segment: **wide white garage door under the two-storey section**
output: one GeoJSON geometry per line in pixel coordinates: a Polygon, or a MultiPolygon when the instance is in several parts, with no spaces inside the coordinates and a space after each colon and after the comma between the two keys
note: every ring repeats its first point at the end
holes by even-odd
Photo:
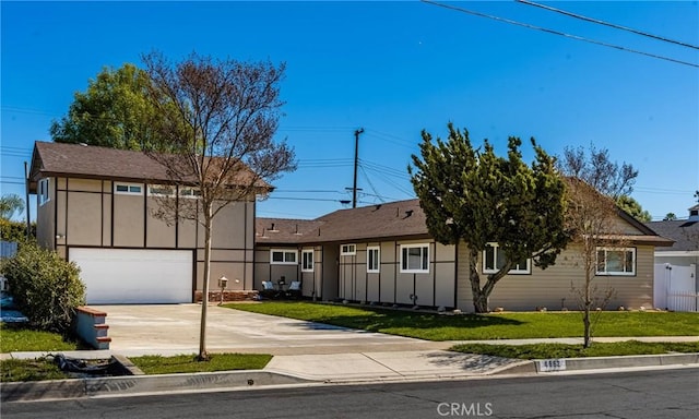
{"type": "Polygon", "coordinates": [[[71,248],[88,304],[192,302],[192,252],[71,248]]]}

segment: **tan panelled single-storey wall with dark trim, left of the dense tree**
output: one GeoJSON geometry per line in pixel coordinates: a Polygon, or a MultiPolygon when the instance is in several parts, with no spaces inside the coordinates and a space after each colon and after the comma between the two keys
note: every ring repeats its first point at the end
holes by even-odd
{"type": "MultiPolygon", "coordinates": [[[[433,240],[355,242],[355,255],[341,255],[337,297],[351,301],[454,307],[455,248],[433,240]],[[402,273],[401,244],[422,244],[429,249],[428,273],[402,273]],[[367,273],[367,248],[380,248],[379,273],[367,273]]],[[[340,244],[337,244],[337,248],[340,244]]]]}

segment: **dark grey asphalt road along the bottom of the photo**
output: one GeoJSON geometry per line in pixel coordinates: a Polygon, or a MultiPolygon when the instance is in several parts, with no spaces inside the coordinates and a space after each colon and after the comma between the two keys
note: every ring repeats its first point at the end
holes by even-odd
{"type": "Polygon", "coordinates": [[[699,417],[699,369],[3,403],[9,418],[699,417]]]}

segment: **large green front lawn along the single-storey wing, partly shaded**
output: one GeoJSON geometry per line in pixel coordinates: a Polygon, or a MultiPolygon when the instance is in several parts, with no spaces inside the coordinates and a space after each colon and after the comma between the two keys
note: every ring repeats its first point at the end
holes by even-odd
{"type": "MultiPolygon", "coordinates": [[[[579,312],[440,315],[298,301],[224,307],[427,340],[577,337],[583,333],[579,312]]],[[[600,322],[594,327],[597,337],[699,336],[699,313],[605,311],[599,314],[600,322]]]]}

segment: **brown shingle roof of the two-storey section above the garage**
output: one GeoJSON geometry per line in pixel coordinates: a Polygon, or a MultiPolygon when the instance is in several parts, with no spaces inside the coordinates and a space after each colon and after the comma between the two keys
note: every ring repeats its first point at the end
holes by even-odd
{"type": "MultiPolygon", "coordinates": [[[[246,168],[242,177],[252,172],[246,168]]],[[[145,153],[94,145],[36,142],[32,156],[29,180],[32,190],[38,179],[76,177],[86,179],[114,179],[121,181],[167,182],[167,169],[145,153]]],[[[241,179],[241,182],[245,181],[241,179]]],[[[257,181],[260,188],[271,188],[257,181]]]]}

